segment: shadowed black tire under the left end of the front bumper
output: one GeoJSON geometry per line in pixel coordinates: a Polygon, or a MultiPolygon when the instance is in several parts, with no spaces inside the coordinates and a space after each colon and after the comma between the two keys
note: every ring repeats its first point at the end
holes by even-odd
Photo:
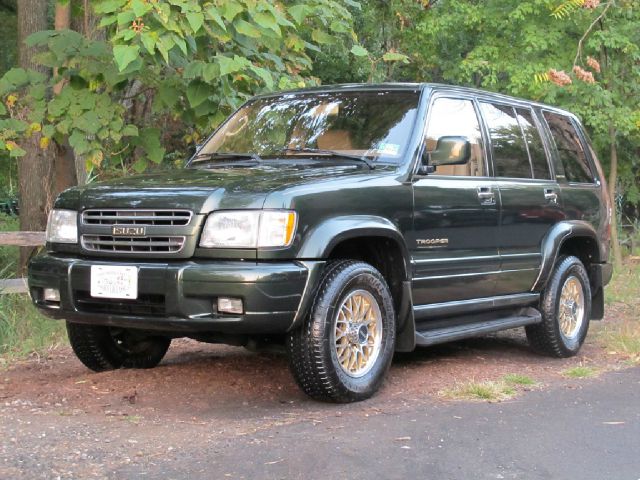
{"type": "Polygon", "coordinates": [[[153,368],[171,339],[123,328],[67,322],[69,343],[78,359],[94,372],[117,368],[153,368]]]}

